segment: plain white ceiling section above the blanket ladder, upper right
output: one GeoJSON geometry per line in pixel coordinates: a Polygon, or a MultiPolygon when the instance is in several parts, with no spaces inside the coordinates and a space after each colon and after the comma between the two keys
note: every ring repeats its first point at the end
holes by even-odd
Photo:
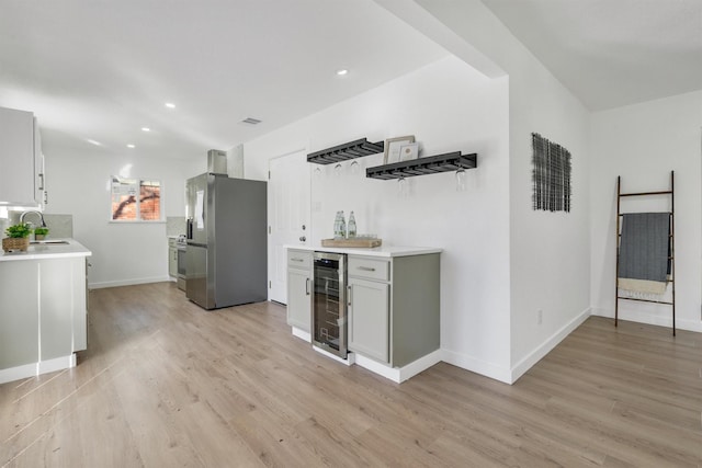
{"type": "Polygon", "coordinates": [[[482,0],[591,111],[702,89],[702,0],[482,0]]]}

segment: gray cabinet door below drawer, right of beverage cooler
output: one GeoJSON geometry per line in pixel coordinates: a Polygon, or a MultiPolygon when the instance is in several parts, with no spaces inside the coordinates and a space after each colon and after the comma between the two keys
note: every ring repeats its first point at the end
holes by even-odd
{"type": "Polygon", "coordinates": [[[388,363],[390,286],[349,278],[349,350],[388,363]]]}

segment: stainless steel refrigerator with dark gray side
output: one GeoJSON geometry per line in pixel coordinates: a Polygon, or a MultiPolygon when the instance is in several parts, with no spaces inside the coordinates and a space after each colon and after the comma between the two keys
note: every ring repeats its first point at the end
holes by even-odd
{"type": "Polygon", "coordinates": [[[268,298],[265,182],[189,179],[185,295],[205,309],[268,298]]]}

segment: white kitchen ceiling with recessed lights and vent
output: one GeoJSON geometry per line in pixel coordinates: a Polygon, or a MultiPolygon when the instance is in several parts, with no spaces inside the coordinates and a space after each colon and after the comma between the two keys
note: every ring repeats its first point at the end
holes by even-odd
{"type": "Polygon", "coordinates": [[[445,55],[372,0],[2,0],[0,106],[47,155],[204,160],[445,55]]]}

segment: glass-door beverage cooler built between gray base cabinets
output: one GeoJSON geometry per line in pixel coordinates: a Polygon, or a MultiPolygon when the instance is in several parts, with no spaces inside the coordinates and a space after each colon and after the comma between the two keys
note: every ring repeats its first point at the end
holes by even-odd
{"type": "Polygon", "coordinates": [[[313,342],[347,357],[346,255],[315,252],[313,342]]]}

